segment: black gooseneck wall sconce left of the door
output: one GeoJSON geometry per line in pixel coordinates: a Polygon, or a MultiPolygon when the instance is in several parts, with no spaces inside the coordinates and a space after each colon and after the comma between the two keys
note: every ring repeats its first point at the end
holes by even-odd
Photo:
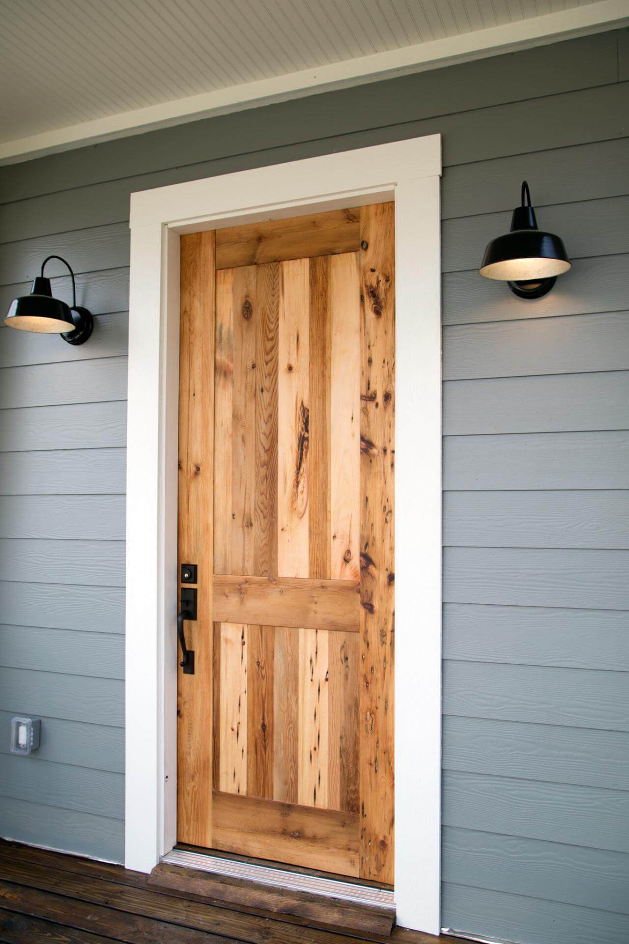
{"type": "Polygon", "coordinates": [[[5,324],[8,328],[22,331],[37,331],[41,334],[60,334],[69,345],[82,345],[88,340],[94,326],[87,308],[76,304],[74,272],[69,263],[60,256],[47,256],[41,263],[41,273],[33,279],[30,295],[22,295],[11,302],[5,324]],[[58,259],[68,267],[72,278],[72,306],[60,298],[53,298],[50,278],[44,278],[46,262],[58,259]]]}

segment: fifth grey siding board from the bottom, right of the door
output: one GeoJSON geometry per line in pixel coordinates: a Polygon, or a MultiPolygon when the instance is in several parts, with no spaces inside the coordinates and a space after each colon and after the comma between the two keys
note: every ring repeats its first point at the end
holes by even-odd
{"type": "Polygon", "coordinates": [[[447,715],[629,732],[629,673],[443,664],[447,715]]]}

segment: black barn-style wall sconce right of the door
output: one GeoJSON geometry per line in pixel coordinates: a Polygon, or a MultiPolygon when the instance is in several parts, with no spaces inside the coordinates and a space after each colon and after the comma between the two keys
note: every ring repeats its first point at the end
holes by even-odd
{"type": "Polygon", "coordinates": [[[571,264],[562,240],[538,229],[528,184],[522,180],[521,207],[513,211],[511,231],[488,243],[480,275],[505,281],[520,298],[541,298],[571,264]]]}

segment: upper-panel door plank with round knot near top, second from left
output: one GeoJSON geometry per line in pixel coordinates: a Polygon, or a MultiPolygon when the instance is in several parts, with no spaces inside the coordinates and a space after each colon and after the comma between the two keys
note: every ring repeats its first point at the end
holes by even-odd
{"type": "Polygon", "coordinates": [[[254,573],[256,475],[256,266],[233,270],[232,573],[254,573]]]}

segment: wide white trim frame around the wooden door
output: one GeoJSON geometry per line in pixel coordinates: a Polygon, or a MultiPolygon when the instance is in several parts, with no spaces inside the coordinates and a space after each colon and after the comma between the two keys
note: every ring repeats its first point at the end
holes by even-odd
{"type": "Polygon", "coordinates": [[[441,343],[439,135],[131,194],[125,865],[176,835],[179,236],[395,201],[395,901],[439,935],[441,343]]]}

